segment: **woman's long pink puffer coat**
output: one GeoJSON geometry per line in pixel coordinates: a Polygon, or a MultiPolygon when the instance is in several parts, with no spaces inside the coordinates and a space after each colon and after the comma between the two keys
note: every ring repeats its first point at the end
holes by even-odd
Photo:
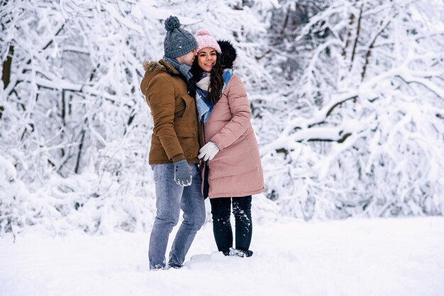
{"type": "Polygon", "coordinates": [[[241,197],[264,191],[251,110],[242,81],[233,74],[204,125],[205,141],[221,149],[209,164],[209,198],[241,197]]]}

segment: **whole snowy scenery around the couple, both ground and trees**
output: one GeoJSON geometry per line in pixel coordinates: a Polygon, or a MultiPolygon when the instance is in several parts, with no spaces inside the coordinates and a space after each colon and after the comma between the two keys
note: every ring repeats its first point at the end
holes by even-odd
{"type": "Polygon", "coordinates": [[[366,1],[360,30],[351,1],[31,2],[1,4],[0,296],[444,295],[443,1],[366,1]],[[152,272],[141,63],[170,15],[238,50],[267,191],[252,258],[215,251],[207,200],[152,272]]]}

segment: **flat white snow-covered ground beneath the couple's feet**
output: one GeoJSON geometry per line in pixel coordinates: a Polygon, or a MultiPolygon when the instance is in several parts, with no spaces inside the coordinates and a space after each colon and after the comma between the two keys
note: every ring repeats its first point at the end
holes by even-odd
{"type": "Polygon", "coordinates": [[[148,233],[0,239],[0,295],[444,295],[444,218],[255,224],[251,258],[214,250],[148,271],[148,233]]]}

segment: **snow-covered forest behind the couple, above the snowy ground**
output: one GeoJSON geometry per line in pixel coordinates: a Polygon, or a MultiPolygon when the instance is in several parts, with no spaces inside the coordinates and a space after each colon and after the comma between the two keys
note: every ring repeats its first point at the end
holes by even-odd
{"type": "Polygon", "coordinates": [[[140,80],[171,14],[238,50],[257,218],[443,215],[442,1],[1,0],[0,235],[150,229],[140,80]]]}

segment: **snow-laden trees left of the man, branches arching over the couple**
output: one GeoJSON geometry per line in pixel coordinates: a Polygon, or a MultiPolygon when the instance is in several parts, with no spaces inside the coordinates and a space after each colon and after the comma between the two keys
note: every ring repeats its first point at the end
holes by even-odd
{"type": "Polygon", "coordinates": [[[192,32],[232,40],[241,69],[265,33],[235,2],[210,4],[1,2],[0,233],[150,227],[152,120],[140,80],[143,60],[163,55],[163,21],[177,15],[192,32]]]}

